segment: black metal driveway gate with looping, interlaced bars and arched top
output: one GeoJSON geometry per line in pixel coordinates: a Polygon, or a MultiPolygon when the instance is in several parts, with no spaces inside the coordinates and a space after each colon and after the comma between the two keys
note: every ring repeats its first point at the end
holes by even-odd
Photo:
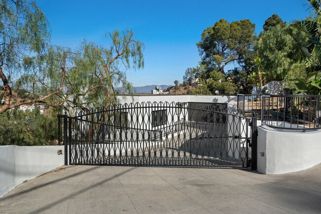
{"type": "Polygon", "coordinates": [[[66,165],[249,167],[256,129],[255,118],[174,102],[112,105],[58,122],[66,165]]]}

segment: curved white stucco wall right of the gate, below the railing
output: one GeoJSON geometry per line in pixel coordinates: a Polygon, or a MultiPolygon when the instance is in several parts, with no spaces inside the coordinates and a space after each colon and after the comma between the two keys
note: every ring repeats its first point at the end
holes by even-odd
{"type": "Polygon", "coordinates": [[[258,127],[257,171],[281,174],[321,163],[321,130],[291,131],[258,127]],[[260,156],[264,152],[264,157],[260,156]]]}

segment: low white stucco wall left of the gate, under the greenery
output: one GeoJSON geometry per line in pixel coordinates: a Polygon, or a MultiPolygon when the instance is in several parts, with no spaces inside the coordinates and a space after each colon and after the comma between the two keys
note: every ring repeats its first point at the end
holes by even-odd
{"type": "Polygon", "coordinates": [[[0,146],[0,197],[24,180],[63,166],[64,146],[0,146]]]}

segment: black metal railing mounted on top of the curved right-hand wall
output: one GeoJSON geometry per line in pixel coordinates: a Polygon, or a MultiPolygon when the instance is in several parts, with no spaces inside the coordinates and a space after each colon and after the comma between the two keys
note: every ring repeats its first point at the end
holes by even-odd
{"type": "Polygon", "coordinates": [[[320,129],[321,95],[262,95],[262,124],[283,129],[320,129]]]}

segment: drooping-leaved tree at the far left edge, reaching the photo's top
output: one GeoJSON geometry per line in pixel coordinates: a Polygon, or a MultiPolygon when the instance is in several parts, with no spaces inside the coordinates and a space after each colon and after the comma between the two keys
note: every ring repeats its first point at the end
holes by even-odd
{"type": "Polygon", "coordinates": [[[35,1],[0,1],[0,78],[5,89],[0,113],[14,107],[9,83],[19,62],[28,53],[42,53],[49,37],[49,23],[35,1]]]}

